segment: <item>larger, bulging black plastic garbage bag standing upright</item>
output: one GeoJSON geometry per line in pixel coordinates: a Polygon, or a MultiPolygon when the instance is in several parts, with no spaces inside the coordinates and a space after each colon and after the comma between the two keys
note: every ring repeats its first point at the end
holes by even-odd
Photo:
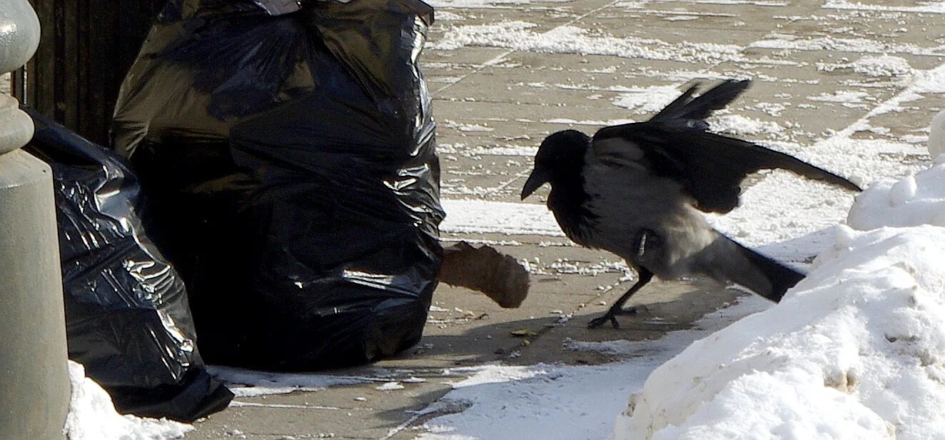
{"type": "Polygon", "coordinates": [[[419,0],[171,1],[114,148],[212,363],[310,370],[418,343],[442,250],[419,0]]]}

